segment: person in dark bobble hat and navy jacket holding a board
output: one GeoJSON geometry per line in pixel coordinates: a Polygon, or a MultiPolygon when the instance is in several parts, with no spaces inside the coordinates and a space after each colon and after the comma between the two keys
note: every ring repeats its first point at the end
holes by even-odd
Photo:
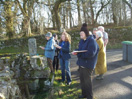
{"type": "Polygon", "coordinates": [[[78,50],[87,50],[87,52],[75,53],[77,55],[77,65],[80,72],[80,83],[82,95],[79,98],[93,99],[92,92],[92,72],[97,63],[99,47],[92,35],[89,35],[88,29],[82,26],[80,30],[80,42],[78,50]]]}

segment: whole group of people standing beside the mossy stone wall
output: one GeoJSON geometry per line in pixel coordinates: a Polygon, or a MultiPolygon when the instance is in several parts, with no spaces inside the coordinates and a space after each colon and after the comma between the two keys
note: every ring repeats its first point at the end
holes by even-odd
{"type": "MultiPolygon", "coordinates": [[[[45,47],[45,56],[47,57],[48,66],[51,73],[61,66],[62,82],[70,85],[72,82],[70,72],[70,48],[71,37],[67,32],[63,32],[60,41],[57,35],[48,32],[48,40],[45,47]]],[[[92,73],[95,70],[96,79],[102,80],[104,73],[107,71],[106,63],[106,46],[108,43],[108,34],[103,26],[93,29],[91,34],[88,31],[87,24],[84,23],[80,29],[80,42],[76,51],[72,55],[77,55],[77,65],[79,66],[80,84],[82,95],[79,98],[93,99],[92,92],[92,73]],[[83,51],[84,50],[84,51],[83,51]],[[80,52],[79,52],[80,51],[80,52]],[[82,52],[81,52],[82,51],[82,52]]]]}

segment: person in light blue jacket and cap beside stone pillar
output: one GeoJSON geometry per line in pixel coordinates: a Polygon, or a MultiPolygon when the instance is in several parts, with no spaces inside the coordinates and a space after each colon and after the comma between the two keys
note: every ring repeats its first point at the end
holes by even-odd
{"type": "Polygon", "coordinates": [[[51,73],[54,73],[53,70],[53,59],[55,56],[55,40],[52,37],[52,33],[48,32],[46,35],[46,46],[44,48],[42,48],[43,50],[45,50],[45,57],[47,58],[47,65],[49,66],[51,73]]]}

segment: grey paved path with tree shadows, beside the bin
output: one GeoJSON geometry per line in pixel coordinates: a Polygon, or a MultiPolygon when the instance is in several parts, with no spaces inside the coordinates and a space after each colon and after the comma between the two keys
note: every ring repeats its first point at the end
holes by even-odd
{"type": "MultiPolygon", "coordinates": [[[[76,65],[77,57],[72,56],[72,79],[79,82],[76,65]]],[[[132,99],[132,64],[122,61],[122,50],[107,51],[108,72],[102,81],[93,76],[94,96],[97,99],[132,99]]]]}

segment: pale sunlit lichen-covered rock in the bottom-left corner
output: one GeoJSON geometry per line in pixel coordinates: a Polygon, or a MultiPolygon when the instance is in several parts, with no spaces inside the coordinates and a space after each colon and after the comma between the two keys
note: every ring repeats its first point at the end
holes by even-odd
{"type": "Polygon", "coordinates": [[[13,78],[13,71],[8,66],[0,72],[0,99],[17,99],[21,97],[17,81],[13,78]]]}

